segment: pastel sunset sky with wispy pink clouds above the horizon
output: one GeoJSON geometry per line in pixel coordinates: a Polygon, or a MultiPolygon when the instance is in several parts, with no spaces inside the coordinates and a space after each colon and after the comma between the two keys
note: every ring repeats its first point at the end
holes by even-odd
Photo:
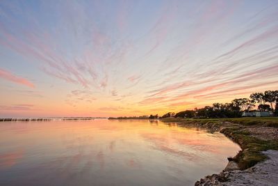
{"type": "Polygon", "coordinates": [[[0,1],[0,117],[141,116],[278,87],[278,1],[0,1]]]}

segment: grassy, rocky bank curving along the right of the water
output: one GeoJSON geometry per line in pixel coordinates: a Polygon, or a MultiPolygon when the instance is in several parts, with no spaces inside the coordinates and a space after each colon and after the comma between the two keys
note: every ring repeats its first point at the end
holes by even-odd
{"type": "Polygon", "coordinates": [[[262,183],[266,185],[278,183],[278,169],[275,168],[278,165],[278,118],[275,118],[274,122],[265,122],[267,119],[257,118],[253,123],[248,121],[248,118],[236,120],[238,119],[241,120],[238,122],[240,124],[231,122],[233,119],[161,120],[220,132],[242,149],[235,157],[228,157],[229,162],[222,172],[201,178],[196,181],[196,186],[259,186],[262,183]]]}

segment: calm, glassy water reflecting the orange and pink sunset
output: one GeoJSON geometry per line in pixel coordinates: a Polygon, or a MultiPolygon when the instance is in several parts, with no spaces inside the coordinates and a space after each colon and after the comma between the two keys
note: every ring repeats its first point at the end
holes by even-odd
{"type": "Polygon", "coordinates": [[[159,121],[0,123],[0,185],[193,185],[240,148],[159,121]]]}

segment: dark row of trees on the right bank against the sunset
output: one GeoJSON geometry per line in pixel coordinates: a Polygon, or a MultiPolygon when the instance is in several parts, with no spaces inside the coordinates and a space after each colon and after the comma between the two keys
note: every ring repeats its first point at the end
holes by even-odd
{"type": "Polygon", "coordinates": [[[180,111],[177,114],[167,112],[161,117],[150,115],[149,118],[238,118],[243,111],[253,111],[258,104],[257,111],[274,111],[278,114],[278,91],[265,91],[261,93],[252,93],[250,98],[237,98],[228,103],[213,103],[212,106],[206,106],[200,109],[180,111]]]}

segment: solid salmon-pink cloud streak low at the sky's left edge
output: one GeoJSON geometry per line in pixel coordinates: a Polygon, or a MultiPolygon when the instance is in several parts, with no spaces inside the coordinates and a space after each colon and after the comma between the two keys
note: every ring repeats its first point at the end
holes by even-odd
{"type": "Polygon", "coordinates": [[[28,86],[31,88],[34,88],[34,84],[29,82],[27,79],[24,79],[23,77],[18,77],[16,75],[13,75],[11,72],[8,72],[6,70],[3,70],[0,68],[0,77],[3,79],[6,79],[10,82],[14,82],[16,84],[22,84],[24,86],[28,86]]]}

